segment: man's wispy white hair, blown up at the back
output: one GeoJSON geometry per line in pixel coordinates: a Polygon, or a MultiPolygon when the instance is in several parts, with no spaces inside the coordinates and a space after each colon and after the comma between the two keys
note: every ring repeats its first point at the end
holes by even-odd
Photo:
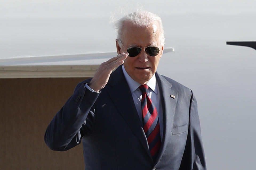
{"type": "MultiPolygon", "coordinates": [[[[112,20],[114,17],[112,16],[112,20]]],[[[149,27],[153,23],[158,23],[160,26],[159,30],[159,40],[161,41],[161,45],[165,44],[165,36],[164,36],[164,31],[163,31],[163,24],[161,18],[148,11],[143,11],[143,10],[137,10],[135,12],[129,13],[129,14],[124,14],[124,16],[116,21],[112,21],[114,28],[117,30],[117,39],[122,40],[123,39],[123,26],[124,23],[130,22],[133,23],[136,26],[139,27],[149,27]]],[[[119,45],[120,42],[118,41],[119,45]]]]}

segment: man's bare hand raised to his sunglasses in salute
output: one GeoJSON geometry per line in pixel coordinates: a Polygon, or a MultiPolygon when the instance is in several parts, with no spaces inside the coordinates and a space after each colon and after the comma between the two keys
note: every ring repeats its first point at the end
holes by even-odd
{"type": "Polygon", "coordinates": [[[122,65],[127,56],[128,53],[121,53],[108,61],[101,63],[88,86],[94,91],[99,92],[106,86],[112,71],[116,67],[122,65]]]}

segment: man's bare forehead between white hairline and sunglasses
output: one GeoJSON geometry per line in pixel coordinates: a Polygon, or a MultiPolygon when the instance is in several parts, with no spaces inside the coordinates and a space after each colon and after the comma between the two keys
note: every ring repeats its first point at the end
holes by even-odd
{"type": "Polygon", "coordinates": [[[159,26],[152,23],[149,26],[137,26],[133,23],[123,25],[123,44],[129,46],[159,45],[159,26]]]}

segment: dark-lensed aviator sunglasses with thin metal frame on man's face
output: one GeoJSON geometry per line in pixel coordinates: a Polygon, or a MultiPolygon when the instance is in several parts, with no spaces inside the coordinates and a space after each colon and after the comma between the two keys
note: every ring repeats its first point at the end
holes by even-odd
{"type": "MultiPolygon", "coordinates": [[[[123,46],[123,43],[121,40],[119,40],[123,46]]],[[[124,47],[124,46],[123,46],[124,47]]],[[[149,54],[150,56],[154,57],[157,56],[159,53],[159,48],[154,46],[147,46],[147,47],[129,47],[127,48],[126,52],[129,53],[129,57],[135,57],[138,56],[141,53],[141,49],[145,48],[145,52],[149,54]]]]}

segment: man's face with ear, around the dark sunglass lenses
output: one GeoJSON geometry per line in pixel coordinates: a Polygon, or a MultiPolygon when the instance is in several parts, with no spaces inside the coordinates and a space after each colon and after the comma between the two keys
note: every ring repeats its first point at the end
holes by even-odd
{"type": "Polygon", "coordinates": [[[157,56],[149,56],[142,48],[141,53],[135,57],[127,57],[123,63],[130,77],[140,84],[146,84],[155,74],[159,59],[163,54],[163,46],[159,40],[159,26],[157,23],[150,27],[138,27],[132,23],[125,23],[123,30],[123,46],[117,43],[118,54],[126,52],[129,47],[157,46],[160,50],[157,56]]]}

